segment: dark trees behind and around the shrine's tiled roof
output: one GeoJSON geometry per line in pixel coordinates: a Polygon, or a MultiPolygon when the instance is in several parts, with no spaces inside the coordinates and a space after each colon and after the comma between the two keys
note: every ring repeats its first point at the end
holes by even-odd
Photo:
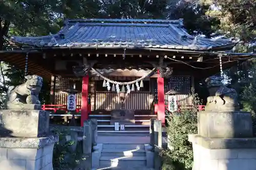
{"type": "MultiPolygon", "coordinates": [[[[0,50],[11,50],[12,47],[4,41],[4,36],[56,33],[66,18],[183,18],[185,28],[192,35],[237,37],[241,41],[236,52],[253,52],[255,9],[254,0],[3,0],[0,2],[0,50]]],[[[244,84],[249,84],[247,70],[251,69],[251,62],[243,65],[238,62],[236,67],[225,71],[228,83],[239,92],[243,91],[244,84]]],[[[6,87],[23,81],[24,70],[4,62],[1,66],[2,80],[5,77],[5,81],[0,93],[4,95],[6,87]]],[[[44,83],[40,96],[48,95],[49,83],[44,83]]],[[[48,99],[41,100],[42,103],[48,102],[48,99]]]]}

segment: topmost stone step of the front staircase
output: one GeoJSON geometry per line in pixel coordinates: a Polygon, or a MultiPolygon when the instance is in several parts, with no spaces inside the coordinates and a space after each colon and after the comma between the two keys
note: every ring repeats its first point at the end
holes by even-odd
{"type": "Polygon", "coordinates": [[[136,143],[103,143],[102,149],[125,149],[127,151],[130,150],[144,150],[145,145],[144,144],[136,144],[136,143]]]}

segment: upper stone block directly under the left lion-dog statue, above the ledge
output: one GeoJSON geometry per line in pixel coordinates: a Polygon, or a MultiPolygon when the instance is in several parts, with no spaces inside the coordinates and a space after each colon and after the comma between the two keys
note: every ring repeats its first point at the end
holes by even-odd
{"type": "Polygon", "coordinates": [[[44,137],[49,133],[45,110],[1,110],[0,137],[44,137]]]}

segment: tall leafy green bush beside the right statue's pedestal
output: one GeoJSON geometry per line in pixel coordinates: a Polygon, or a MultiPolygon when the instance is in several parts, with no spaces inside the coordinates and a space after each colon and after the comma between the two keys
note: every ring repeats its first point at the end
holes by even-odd
{"type": "Polygon", "coordinates": [[[167,118],[168,149],[162,153],[162,170],[192,169],[193,147],[188,141],[188,134],[197,134],[197,109],[200,100],[197,94],[191,95],[194,99],[193,109],[182,109],[167,118]]]}

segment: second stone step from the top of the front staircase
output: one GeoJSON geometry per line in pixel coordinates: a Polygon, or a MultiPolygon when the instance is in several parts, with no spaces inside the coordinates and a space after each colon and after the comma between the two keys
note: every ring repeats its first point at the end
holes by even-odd
{"type": "Polygon", "coordinates": [[[103,149],[101,156],[146,156],[145,150],[103,149]]]}

